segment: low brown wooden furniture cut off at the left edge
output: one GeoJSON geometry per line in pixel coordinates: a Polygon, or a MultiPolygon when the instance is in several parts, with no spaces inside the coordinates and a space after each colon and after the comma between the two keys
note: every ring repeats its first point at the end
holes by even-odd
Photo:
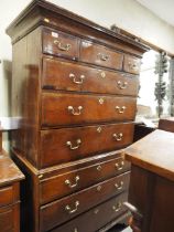
{"type": "MultiPolygon", "coordinates": [[[[2,130],[0,128],[0,144],[2,130]]],[[[4,150],[0,150],[0,231],[20,232],[20,181],[23,173],[9,158],[4,150]]]]}

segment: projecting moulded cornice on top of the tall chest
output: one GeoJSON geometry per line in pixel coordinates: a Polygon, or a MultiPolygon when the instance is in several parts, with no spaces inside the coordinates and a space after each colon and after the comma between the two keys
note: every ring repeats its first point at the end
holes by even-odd
{"type": "MultiPolygon", "coordinates": [[[[19,17],[9,25],[7,33],[15,43],[21,38],[40,25],[45,25],[80,39],[87,39],[110,49],[128,52],[141,56],[148,48],[124,35],[117,34],[73,12],[62,9],[53,3],[36,0],[32,1],[19,17]]],[[[56,34],[54,34],[56,36],[56,34]]],[[[47,38],[48,40],[48,38],[47,38]]],[[[77,41],[74,41],[76,43],[77,41]]],[[[84,43],[84,46],[87,45],[84,43]]],[[[62,48],[67,49],[67,48],[62,48]]],[[[112,55],[112,54],[110,54],[112,55]]],[[[107,59],[102,56],[101,60],[107,59]]]]}

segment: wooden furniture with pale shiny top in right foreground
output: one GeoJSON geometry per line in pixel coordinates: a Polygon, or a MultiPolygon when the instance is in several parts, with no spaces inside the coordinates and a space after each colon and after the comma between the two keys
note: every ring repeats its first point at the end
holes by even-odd
{"type": "MultiPolygon", "coordinates": [[[[168,129],[167,122],[162,124],[168,129]]],[[[126,159],[132,165],[127,205],[133,231],[173,232],[174,134],[156,129],[131,145],[126,159]]]]}

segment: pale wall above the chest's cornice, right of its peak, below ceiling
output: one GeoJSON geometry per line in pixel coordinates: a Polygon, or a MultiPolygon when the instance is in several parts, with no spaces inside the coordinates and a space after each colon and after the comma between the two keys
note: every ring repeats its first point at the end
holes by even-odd
{"type": "Polygon", "coordinates": [[[135,0],[48,0],[106,28],[116,23],[174,54],[174,28],[135,0]]]}

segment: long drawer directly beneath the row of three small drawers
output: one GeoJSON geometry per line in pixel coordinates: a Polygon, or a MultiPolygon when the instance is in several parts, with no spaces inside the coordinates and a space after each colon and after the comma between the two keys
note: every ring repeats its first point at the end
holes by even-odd
{"type": "Polygon", "coordinates": [[[139,78],[56,59],[43,59],[42,87],[101,94],[138,95],[139,78]]]}

